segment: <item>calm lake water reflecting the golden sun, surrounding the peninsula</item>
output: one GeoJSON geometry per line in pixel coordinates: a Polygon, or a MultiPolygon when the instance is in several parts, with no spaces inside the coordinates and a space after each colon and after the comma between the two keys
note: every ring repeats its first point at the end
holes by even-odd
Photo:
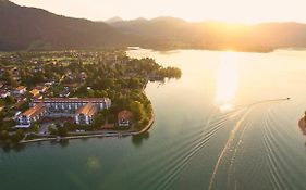
{"type": "Polygon", "coordinates": [[[127,54],[183,73],[148,84],[149,132],[2,149],[0,189],[306,189],[306,51],[127,54]]]}

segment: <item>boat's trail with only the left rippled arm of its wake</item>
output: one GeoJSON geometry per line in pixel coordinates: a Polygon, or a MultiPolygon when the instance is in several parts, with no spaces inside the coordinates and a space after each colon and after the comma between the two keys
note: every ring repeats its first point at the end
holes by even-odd
{"type": "MultiPolygon", "coordinates": [[[[152,178],[151,180],[147,180],[147,182],[152,183],[150,189],[169,189],[171,187],[171,183],[174,181],[175,177],[185,168],[185,166],[189,163],[189,161],[209,142],[211,138],[216,136],[216,134],[225,127],[225,123],[230,118],[235,118],[249,110],[250,106],[254,106],[256,104],[262,103],[262,102],[272,102],[272,101],[280,101],[280,100],[286,100],[286,99],[274,99],[274,100],[266,100],[266,101],[259,101],[252,104],[247,104],[244,106],[238,106],[235,110],[232,110],[230,112],[223,113],[221,115],[218,115],[217,112],[219,112],[219,109],[213,109],[208,116],[208,119],[205,124],[198,125],[194,128],[194,132],[191,132],[188,136],[184,138],[185,140],[183,143],[180,140],[175,144],[174,149],[170,149],[167,151],[167,153],[160,155],[162,157],[168,157],[169,154],[174,157],[174,160],[171,160],[171,162],[166,163],[163,167],[160,169],[156,168],[156,174],[162,174],[158,176],[164,176],[160,180],[152,178]],[[196,137],[196,135],[198,135],[196,137]]],[[[156,161],[152,161],[155,163],[156,161]]],[[[151,164],[152,164],[151,163],[151,164]]]]}

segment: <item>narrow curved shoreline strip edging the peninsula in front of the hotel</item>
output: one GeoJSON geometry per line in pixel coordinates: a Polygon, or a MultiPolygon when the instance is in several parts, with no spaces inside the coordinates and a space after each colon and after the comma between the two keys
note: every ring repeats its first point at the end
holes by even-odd
{"type": "Polygon", "coordinates": [[[99,138],[99,137],[128,137],[128,136],[138,136],[142,134],[145,134],[148,131],[151,126],[155,123],[155,114],[152,113],[152,117],[149,121],[149,124],[144,127],[139,131],[106,131],[106,130],[99,130],[99,131],[90,131],[90,135],[79,135],[79,136],[69,136],[69,137],[52,137],[52,138],[41,138],[41,139],[34,139],[34,140],[22,140],[19,143],[20,144],[27,144],[27,143],[34,143],[34,142],[45,142],[45,141],[61,141],[61,140],[75,140],[75,139],[89,139],[89,138],[99,138]]]}

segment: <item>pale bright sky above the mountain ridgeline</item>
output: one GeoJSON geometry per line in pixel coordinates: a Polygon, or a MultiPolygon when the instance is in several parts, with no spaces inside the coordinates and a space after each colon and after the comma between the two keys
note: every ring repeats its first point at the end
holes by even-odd
{"type": "Polygon", "coordinates": [[[12,0],[20,5],[106,21],[173,16],[186,21],[225,21],[245,24],[262,22],[306,23],[306,0],[12,0]]]}

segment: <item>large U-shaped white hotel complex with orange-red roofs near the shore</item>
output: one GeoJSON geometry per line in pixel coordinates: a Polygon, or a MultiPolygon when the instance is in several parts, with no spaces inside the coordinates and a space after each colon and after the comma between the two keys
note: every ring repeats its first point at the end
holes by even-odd
{"type": "Polygon", "coordinates": [[[17,117],[19,127],[29,127],[33,122],[44,116],[73,117],[75,124],[90,125],[95,114],[111,106],[111,100],[108,98],[52,98],[36,99],[29,105],[30,109],[17,117]]]}

